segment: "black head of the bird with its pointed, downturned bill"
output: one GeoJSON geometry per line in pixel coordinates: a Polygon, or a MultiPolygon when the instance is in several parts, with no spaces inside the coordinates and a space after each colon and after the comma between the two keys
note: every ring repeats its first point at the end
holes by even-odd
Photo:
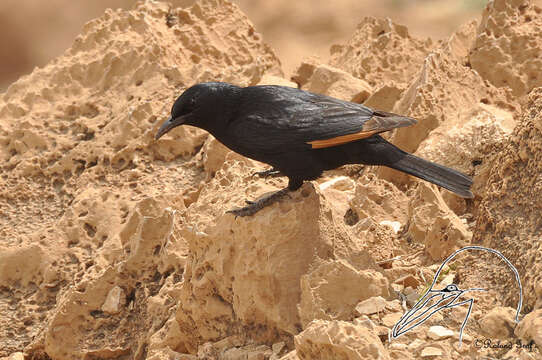
{"type": "Polygon", "coordinates": [[[219,82],[196,84],[181,94],[171,108],[170,117],[160,126],[156,140],[180,125],[192,125],[205,130],[211,130],[209,125],[217,123],[224,116],[222,104],[228,103],[228,98],[239,89],[235,85],[219,82]]]}

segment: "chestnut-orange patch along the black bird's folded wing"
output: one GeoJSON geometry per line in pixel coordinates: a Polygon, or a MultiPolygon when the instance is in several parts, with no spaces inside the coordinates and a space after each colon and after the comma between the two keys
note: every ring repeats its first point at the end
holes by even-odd
{"type": "Polygon", "coordinates": [[[313,149],[322,149],[331,146],[338,146],[346,144],[348,142],[366,139],[375,134],[379,134],[392,129],[411,126],[416,123],[417,121],[415,119],[406,116],[400,116],[385,111],[375,111],[371,118],[363,124],[361,131],[328,139],[308,141],[307,144],[311,145],[313,149]]]}

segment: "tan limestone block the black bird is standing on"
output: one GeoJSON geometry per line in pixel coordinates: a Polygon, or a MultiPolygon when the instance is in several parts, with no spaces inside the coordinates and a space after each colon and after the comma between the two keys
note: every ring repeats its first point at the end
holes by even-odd
{"type": "MultiPolygon", "coordinates": [[[[301,320],[297,309],[302,299],[300,280],[310,273],[311,267],[319,274],[327,273],[318,270],[319,261],[329,261],[328,265],[320,266],[331,270],[330,279],[342,275],[332,281],[337,286],[341,286],[345,274],[352,274],[352,284],[356,284],[348,289],[352,298],[358,296],[363,284],[373,283],[374,274],[366,275],[346,263],[354,259],[332,261],[347,250],[344,246],[355,244],[345,231],[341,233],[341,225],[334,219],[325,198],[310,183],[292,193],[291,198],[255,216],[236,219],[230,214],[219,215],[216,224],[206,224],[207,217],[201,216],[206,211],[219,214],[218,209],[231,208],[227,204],[233,207],[237,199],[244,196],[232,198],[218,189],[227,185],[230,192],[242,193],[241,189],[247,188],[243,179],[262,182],[250,175],[252,170],[242,162],[226,162],[202,190],[198,202],[189,208],[194,217],[187,223],[199,230],[190,227],[183,230],[193,256],[187,263],[177,310],[183,346],[187,349],[228,336],[232,328],[241,325],[258,324],[260,330],[252,334],[258,340],[275,340],[277,332],[296,334],[301,320]],[[208,196],[215,200],[211,201],[208,196]],[[333,268],[348,271],[333,271],[333,268]]],[[[371,264],[369,260],[365,266],[368,264],[371,264]]],[[[385,279],[382,280],[385,288],[385,279]]],[[[378,278],[374,283],[380,285],[378,278]]],[[[323,299],[335,299],[334,286],[327,292],[323,290],[326,288],[321,289],[323,299]]],[[[357,300],[352,301],[352,308],[357,300]]]]}

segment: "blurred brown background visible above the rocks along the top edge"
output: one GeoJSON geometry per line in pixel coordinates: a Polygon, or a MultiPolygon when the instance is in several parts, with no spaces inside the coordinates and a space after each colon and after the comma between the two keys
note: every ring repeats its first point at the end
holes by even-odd
{"type": "MultiPolygon", "coordinates": [[[[194,0],[175,0],[174,6],[194,0]]],[[[303,56],[329,56],[365,16],[389,17],[414,35],[443,39],[479,16],[483,0],[235,0],[290,74],[303,56]]],[[[0,89],[68,49],[83,25],[106,8],[130,9],[135,0],[2,0],[0,89]]]]}

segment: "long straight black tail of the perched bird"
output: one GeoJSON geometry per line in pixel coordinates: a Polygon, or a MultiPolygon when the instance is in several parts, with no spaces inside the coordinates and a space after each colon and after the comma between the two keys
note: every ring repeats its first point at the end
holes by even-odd
{"type": "Polygon", "coordinates": [[[469,176],[415,155],[405,153],[398,161],[386,166],[442,186],[464,198],[474,197],[470,191],[472,179],[469,176]]]}

